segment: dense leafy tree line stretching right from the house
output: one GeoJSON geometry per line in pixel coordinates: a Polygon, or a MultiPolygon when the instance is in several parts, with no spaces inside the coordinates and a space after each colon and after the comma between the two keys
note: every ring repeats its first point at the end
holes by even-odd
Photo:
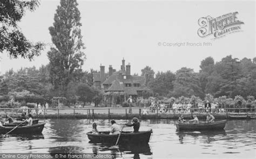
{"type": "Polygon", "coordinates": [[[147,86],[160,96],[198,96],[202,99],[208,93],[228,98],[256,96],[256,57],[239,60],[229,55],[219,62],[207,57],[201,61],[199,73],[183,67],[176,73],[158,72],[154,77],[154,71],[149,66],[142,70],[142,74],[145,70],[151,77],[146,77],[147,86]]]}

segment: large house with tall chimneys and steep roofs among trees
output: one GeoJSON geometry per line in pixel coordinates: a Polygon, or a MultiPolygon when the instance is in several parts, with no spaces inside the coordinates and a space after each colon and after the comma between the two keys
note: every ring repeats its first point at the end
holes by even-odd
{"type": "Polygon", "coordinates": [[[128,96],[139,97],[143,91],[149,91],[145,83],[145,76],[131,75],[131,65],[125,66],[124,59],[119,71],[110,65],[109,73],[105,73],[105,66],[100,64],[100,72],[93,73],[93,85],[105,92],[124,92],[128,96]]]}

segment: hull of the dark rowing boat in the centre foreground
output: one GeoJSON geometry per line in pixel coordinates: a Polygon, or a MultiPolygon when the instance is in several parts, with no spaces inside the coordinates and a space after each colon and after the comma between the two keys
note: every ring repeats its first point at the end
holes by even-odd
{"type": "MultiPolygon", "coordinates": [[[[99,132],[99,134],[92,134],[92,132],[86,133],[88,139],[92,143],[108,143],[115,144],[118,138],[118,134],[110,135],[110,132],[99,132]]],[[[122,132],[118,144],[145,144],[149,143],[152,134],[150,131],[141,131],[138,133],[122,132]]]]}

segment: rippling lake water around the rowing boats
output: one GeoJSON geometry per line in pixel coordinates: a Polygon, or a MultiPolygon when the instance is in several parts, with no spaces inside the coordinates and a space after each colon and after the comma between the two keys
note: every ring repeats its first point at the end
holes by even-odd
{"type": "MultiPolygon", "coordinates": [[[[43,122],[42,120],[41,122],[43,122]]],[[[95,120],[107,131],[109,120],[95,120]]],[[[127,120],[116,120],[125,123],[127,120]]],[[[1,153],[111,153],[123,158],[255,158],[256,120],[230,120],[225,131],[176,132],[173,120],[142,120],[140,131],[153,129],[146,146],[109,148],[89,143],[92,120],[48,119],[41,135],[0,136],[1,153]]],[[[132,131],[131,127],[124,131],[132,131]]]]}

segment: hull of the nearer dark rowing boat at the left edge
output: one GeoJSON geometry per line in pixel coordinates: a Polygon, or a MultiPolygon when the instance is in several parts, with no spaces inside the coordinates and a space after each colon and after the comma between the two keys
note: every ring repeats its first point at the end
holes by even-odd
{"type": "MultiPolygon", "coordinates": [[[[19,126],[11,134],[38,134],[42,133],[45,123],[35,124],[31,126],[19,126]]],[[[14,126],[0,126],[0,134],[5,134],[11,131],[14,126]]]]}

